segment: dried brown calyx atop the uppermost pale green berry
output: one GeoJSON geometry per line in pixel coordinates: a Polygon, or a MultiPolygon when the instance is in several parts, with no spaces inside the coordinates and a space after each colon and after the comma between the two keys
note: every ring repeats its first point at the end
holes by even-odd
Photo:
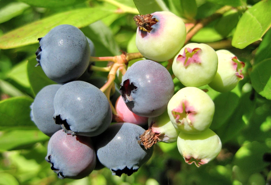
{"type": "Polygon", "coordinates": [[[152,30],[152,25],[158,22],[157,19],[152,18],[151,14],[136,15],[134,20],[136,21],[136,25],[139,27],[139,29],[145,32],[150,32],[152,30]]]}

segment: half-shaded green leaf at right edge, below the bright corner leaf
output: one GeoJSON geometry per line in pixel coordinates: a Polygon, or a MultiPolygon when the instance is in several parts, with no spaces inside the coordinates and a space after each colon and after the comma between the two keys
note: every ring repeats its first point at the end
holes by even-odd
{"type": "Polygon", "coordinates": [[[271,100],[271,58],[253,66],[250,73],[252,87],[263,97],[271,100]]]}

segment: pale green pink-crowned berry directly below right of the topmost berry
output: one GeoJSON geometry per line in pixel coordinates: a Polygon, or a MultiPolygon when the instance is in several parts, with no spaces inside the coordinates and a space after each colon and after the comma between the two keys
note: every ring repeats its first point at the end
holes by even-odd
{"type": "Polygon", "coordinates": [[[200,87],[210,83],[216,75],[218,58],[207,44],[190,43],[175,56],[172,71],[187,87],[200,87]]]}

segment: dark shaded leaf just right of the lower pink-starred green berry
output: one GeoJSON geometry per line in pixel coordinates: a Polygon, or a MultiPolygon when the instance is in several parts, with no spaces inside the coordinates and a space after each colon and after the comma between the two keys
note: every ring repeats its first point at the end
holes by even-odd
{"type": "Polygon", "coordinates": [[[233,92],[221,93],[214,99],[215,111],[211,130],[218,129],[223,125],[238,106],[239,97],[233,92]]]}

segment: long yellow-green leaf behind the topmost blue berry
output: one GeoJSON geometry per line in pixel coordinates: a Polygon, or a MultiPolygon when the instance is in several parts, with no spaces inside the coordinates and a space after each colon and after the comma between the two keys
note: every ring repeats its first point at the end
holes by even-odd
{"type": "Polygon", "coordinates": [[[38,38],[45,36],[57,25],[70,24],[79,28],[85,27],[112,13],[114,13],[113,9],[103,7],[80,8],[57,13],[4,34],[0,37],[0,48],[9,49],[35,44],[38,43],[38,38]]]}

